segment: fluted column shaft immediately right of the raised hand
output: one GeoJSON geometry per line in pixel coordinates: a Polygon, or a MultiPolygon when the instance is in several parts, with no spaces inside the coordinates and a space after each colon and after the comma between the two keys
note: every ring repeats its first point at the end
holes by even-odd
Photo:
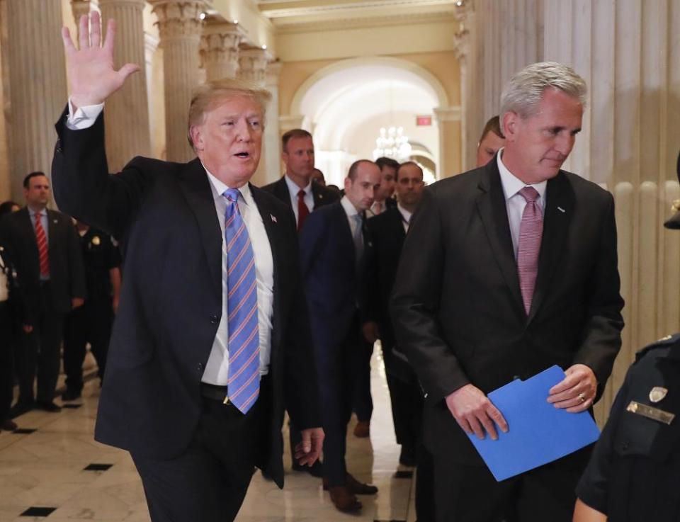
{"type": "Polygon", "coordinates": [[[113,57],[115,67],[126,63],[140,66],[123,88],[106,100],[106,157],[111,172],[118,172],[135,156],[149,156],[149,105],[147,100],[144,20],[145,0],[99,0],[106,23],[118,24],[113,57]]]}

